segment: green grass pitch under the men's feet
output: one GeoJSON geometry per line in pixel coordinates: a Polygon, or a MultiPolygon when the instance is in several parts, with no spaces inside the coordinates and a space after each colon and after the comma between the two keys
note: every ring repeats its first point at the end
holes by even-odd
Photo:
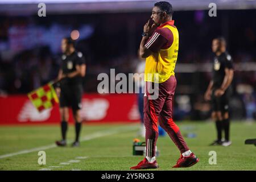
{"type": "MultiPolygon", "coordinates": [[[[216,138],[213,122],[177,122],[177,125],[200,162],[190,168],[171,168],[180,154],[166,135],[158,138],[160,168],[156,170],[256,170],[256,147],[244,144],[245,139],[256,138],[256,122],[232,122],[230,138],[233,143],[228,147],[209,146],[216,138]],[[194,133],[196,137],[185,137],[188,133],[194,133]],[[216,151],[217,164],[209,164],[210,151],[216,151]]],[[[138,123],[85,123],[81,146],[72,148],[70,143],[75,135],[72,125],[68,129],[67,147],[54,145],[54,141],[60,139],[57,125],[1,126],[0,170],[129,170],[143,159],[143,156],[132,155],[133,139],[144,140],[137,137],[138,131],[138,123]],[[39,150],[46,152],[46,165],[38,164],[39,150]]]]}

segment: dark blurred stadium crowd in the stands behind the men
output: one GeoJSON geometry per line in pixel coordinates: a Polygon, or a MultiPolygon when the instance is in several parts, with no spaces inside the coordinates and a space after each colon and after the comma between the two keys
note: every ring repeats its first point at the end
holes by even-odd
{"type": "MultiPolygon", "coordinates": [[[[211,77],[210,46],[216,36],[226,38],[235,64],[231,115],[235,119],[255,119],[253,17],[255,10],[221,10],[214,18],[203,10],[174,13],[180,31],[175,119],[209,118],[210,105],[203,94],[211,77]],[[209,65],[207,69],[199,70],[204,64],[209,65]]],[[[85,93],[96,93],[99,73],[109,73],[110,68],[115,68],[116,74],[135,72],[137,49],[148,18],[150,13],[52,14],[44,18],[0,15],[1,95],[26,94],[56,78],[61,38],[70,36],[72,30],[79,31],[76,47],[87,61],[85,93]]]]}

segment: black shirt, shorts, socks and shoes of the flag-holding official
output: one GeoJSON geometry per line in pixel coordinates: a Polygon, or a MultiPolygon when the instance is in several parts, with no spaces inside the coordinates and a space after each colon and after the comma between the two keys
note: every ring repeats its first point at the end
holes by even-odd
{"type": "MultiPolygon", "coordinates": [[[[59,82],[60,86],[60,108],[71,107],[73,110],[73,115],[77,110],[82,108],[81,99],[82,99],[82,77],[77,75],[75,77],[67,77],[69,73],[75,72],[77,65],[81,66],[85,63],[84,56],[81,52],[74,51],[70,55],[62,55],[61,57],[61,71],[62,75],[66,75],[59,82]]],[[[77,119],[76,117],[74,118],[77,119]]],[[[76,129],[76,139],[72,143],[72,146],[79,146],[79,135],[81,130],[81,122],[75,121],[76,129]]],[[[61,134],[63,140],[56,141],[57,146],[66,146],[66,133],[68,129],[68,121],[61,121],[61,134]]]]}

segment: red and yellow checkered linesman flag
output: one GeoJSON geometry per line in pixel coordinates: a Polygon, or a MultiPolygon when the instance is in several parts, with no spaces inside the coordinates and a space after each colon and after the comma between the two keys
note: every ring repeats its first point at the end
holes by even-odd
{"type": "Polygon", "coordinates": [[[27,94],[32,104],[38,109],[39,112],[51,108],[56,103],[59,103],[59,98],[52,86],[53,82],[30,92],[27,94]]]}

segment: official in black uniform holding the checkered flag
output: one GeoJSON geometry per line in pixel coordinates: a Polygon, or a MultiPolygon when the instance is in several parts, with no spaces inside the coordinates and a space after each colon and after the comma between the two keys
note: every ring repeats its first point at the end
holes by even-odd
{"type": "Polygon", "coordinates": [[[69,107],[72,108],[75,120],[76,139],[73,147],[79,146],[79,135],[81,130],[81,98],[82,78],[85,76],[86,63],[81,52],[76,52],[75,42],[71,38],[64,38],[61,41],[63,55],[61,67],[57,80],[59,87],[56,88],[60,96],[60,117],[62,140],[56,141],[57,146],[66,146],[66,133],[68,129],[69,107]]]}

